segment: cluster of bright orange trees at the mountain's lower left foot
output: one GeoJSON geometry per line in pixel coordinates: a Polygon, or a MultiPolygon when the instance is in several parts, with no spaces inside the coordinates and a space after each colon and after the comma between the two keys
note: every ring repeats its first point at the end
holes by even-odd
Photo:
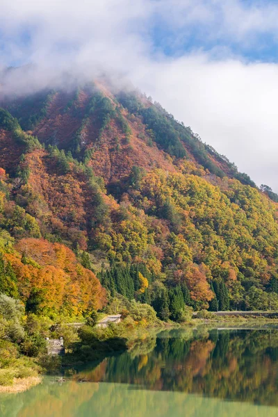
{"type": "Polygon", "coordinates": [[[40,309],[64,311],[77,315],[106,304],[106,292],[95,274],[76,261],[74,253],[64,245],[44,239],[19,240],[16,248],[26,256],[27,264],[19,256],[6,254],[18,281],[24,301],[31,291],[40,292],[40,309]]]}

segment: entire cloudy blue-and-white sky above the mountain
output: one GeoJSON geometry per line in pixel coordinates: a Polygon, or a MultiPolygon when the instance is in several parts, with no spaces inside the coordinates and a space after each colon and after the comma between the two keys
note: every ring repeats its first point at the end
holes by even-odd
{"type": "Polygon", "coordinates": [[[277,0],[1,0],[0,67],[30,63],[11,92],[124,77],[278,193],[277,0]]]}

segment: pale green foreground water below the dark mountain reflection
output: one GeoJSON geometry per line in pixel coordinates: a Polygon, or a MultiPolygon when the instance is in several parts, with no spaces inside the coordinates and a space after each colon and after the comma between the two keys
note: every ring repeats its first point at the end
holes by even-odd
{"type": "Polygon", "coordinates": [[[170,391],[77,382],[37,386],[13,398],[7,397],[0,410],[1,417],[277,417],[275,407],[258,407],[247,402],[221,402],[170,391]]]}

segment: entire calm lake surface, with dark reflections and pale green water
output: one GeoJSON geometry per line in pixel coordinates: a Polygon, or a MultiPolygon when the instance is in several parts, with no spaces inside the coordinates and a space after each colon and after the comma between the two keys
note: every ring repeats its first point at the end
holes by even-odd
{"type": "Polygon", "coordinates": [[[1,417],[278,417],[278,330],[175,330],[0,395],[1,417]]]}

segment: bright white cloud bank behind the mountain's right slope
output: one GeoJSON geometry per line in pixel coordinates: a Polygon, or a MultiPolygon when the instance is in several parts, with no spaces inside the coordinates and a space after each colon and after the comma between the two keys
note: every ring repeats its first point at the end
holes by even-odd
{"type": "Polygon", "coordinates": [[[258,184],[278,191],[278,66],[190,56],[153,65],[147,90],[258,184]]]}

